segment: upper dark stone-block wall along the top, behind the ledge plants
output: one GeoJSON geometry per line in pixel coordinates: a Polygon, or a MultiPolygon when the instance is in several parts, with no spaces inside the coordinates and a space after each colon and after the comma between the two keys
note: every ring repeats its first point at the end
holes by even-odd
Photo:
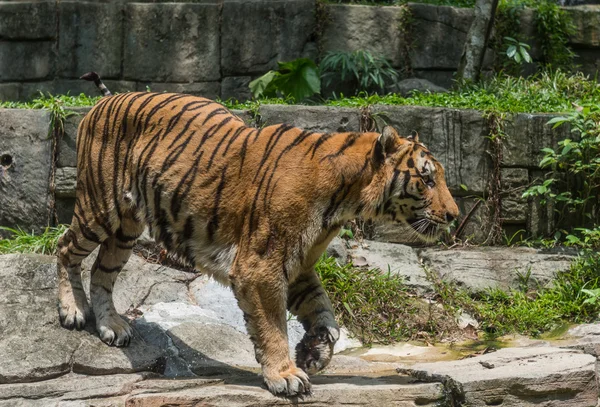
{"type": "MultiPolygon", "coordinates": [[[[207,97],[249,97],[248,83],[277,61],[318,59],[327,51],[383,54],[407,75],[452,83],[473,10],[410,4],[411,29],[400,7],[326,4],[315,0],[180,0],[133,2],[0,0],[0,100],[39,91],[96,95],[77,79],[94,70],[117,92],[176,91],[207,97]]],[[[600,7],[565,8],[577,26],[576,63],[600,68],[600,7]]],[[[524,30],[535,36],[533,13],[524,30]]],[[[533,41],[532,55],[539,57],[533,41]]],[[[493,53],[488,52],[486,64],[493,53]]]]}

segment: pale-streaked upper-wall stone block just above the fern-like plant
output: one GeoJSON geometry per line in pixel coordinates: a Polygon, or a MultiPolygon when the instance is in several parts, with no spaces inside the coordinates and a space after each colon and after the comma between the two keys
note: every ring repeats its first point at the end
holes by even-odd
{"type": "Polygon", "coordinates": [[[323,51],[365,50],[382,55],[396,68],[410,64],[401,32],[402,7],[328,4],[321,45],[323,51]]]}

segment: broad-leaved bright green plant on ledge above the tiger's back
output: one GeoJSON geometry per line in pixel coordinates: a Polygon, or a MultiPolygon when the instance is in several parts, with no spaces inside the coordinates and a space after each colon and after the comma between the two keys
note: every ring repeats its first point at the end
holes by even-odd
{"type": "Polygon", "coordinates": [[[269,71],[250,82],[250,90],[255,98],[291,97],[296,102],[321,93],[319,69],[308,58],[290,62],[278,62],[277,71],[269,71]]]}

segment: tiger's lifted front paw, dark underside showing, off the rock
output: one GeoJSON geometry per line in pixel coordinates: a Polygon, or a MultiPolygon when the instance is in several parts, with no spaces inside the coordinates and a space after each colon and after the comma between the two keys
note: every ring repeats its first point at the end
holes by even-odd
{"type": "Polygon", "coordinates": [[[333,326],[311,329],[296,346],[296,364],[310,374],[323,370],[333,357],[340,330],[333,326]]]}

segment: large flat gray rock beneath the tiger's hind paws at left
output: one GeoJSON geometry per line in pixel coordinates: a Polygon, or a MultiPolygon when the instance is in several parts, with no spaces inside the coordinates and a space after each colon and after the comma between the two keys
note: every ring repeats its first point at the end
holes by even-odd
{"type": "MultiPolygon", "coordinates": [[[[134,340],[129,348],[109,347],[93,330],[60,327],[55,257],[0,256],[0,286],[0,383],[47,380],[71,370],[92,374],[161,371],[162,351],[143,341],[134,340]]],[[[119,295],[116,291],[115,297],[119,295]]]]}

